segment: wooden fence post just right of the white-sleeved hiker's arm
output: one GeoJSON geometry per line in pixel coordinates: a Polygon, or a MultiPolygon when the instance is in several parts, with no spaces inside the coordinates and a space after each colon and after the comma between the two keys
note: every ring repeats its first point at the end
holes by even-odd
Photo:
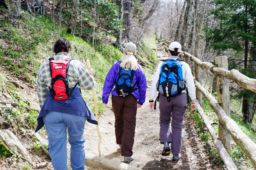
{"type": "MultiPolygon", "coordinates": [[[[195,57],[198,58],[199,60],[202,59],[201,57],[201,50],[195,50],[194,52],[195,57]]],[[[199,67],[196,63],[195,63],[195,78],[198,81],[198,83],[200,83],[202,85],[202,75],[201,75],[201,67],[199,67]]],[[[203,94],[198,90],[198,88],[196,88],[196,99],[198,100],[199,104],[201,107],[203,107],[203,94]]]]}

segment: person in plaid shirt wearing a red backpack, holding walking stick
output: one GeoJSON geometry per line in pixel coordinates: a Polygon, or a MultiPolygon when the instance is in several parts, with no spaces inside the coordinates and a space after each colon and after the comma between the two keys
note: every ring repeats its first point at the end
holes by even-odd
{"type": "Polygon", "coordinates": [[[83,100],[80,88],[94,88],[94,71],[69,57],[71,46],[66,38],[59,38],[53,48],[56,55],[42,63],[38,70],[37,94],[41,110],[36,132],[45,124],[52,166],[55,170],[67,170],[68,128],[71,167],[84,170],[85,121],[98,122],[83,100]]]}

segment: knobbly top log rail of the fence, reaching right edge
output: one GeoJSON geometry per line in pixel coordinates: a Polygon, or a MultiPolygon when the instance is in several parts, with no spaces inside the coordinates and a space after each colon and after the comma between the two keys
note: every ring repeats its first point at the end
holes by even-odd
{"type": "Polygon", "coordinates": [[[223,68],[216,67],[216,65],[213,65],[208,62],[202,62],[195,56],[184,52],[184,55],[181,54],[181,56],[188,56],[190,60],[194,61],[197,65],[199,65],[201,68],[208,68],[210,71],[217,75],[221,75],[229,80],[234,80],[240,87],[243,87],[246,90],[250,90],[252,92],[256,92],[256,79],[249,78],[242,73],[240,73],[238,70],[232,69],[232,70],[226,70],[223,68]]]}

